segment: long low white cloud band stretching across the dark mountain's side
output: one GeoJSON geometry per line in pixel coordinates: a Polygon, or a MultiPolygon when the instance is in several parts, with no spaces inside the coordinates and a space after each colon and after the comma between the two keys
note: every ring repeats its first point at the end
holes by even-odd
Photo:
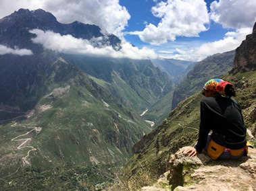
{"type": "Polygon", "coordinates": [[[157,54],[152,49],[143,47],[141,49],[132,46],[128,42],[122,42],[120,50],[114,50],[112,46],[103,46],[99,43],[101,39],[84,40],[74,38],[71,35],[54,33],[51,31],[44,32],[43,30],[31,30],[36,34],[36,38],[32,38],[32,42],[43,44],[44,48],[57,52],[71,54],[88,54],[94,56],[109,56],[113,58],[129,58],[129,59],[156,59],[157,54]],[[97,46],[95,46],[97,42],[97,46]]]}

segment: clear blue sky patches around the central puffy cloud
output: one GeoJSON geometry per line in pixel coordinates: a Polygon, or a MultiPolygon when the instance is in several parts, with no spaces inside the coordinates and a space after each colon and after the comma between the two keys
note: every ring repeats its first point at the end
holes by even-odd
{"type": "MultiPolygon", "coordinates": [[[[159,1],[158,1],[159,2],[159,1]]],[[[210,5],[213,0],[205,1],[207,3],[207,11],[210,12],[210,5]]],[[[145,28],[145,22],[157,25],[161,19],[153,16],[151,8],[156,5],[157,2],[152,0],[120,0],[120,5],[126,7],[131,15],[128,21],[128,26],[124,32],[132,32],[136,30],[143,30],[145,28]]],[[[209,30],[200,32],[198,37],[186,37],[177,36],[175,42],[168,42],[159,46],[151,45],[147,42],[140,40],[138,36],[126,34],[125,38],[128,42],[131,42],[135,46],[142,48],[143,46],[149,46],[154,50],[174,50],[175,48],[195,48],[205,42],[214,42],[222,40],[227,32],[234,32],[235,29],[223,28],[221,24],[215,23],[212,20],[207,25],[209,30]]],[[[174,53],[177,53],[174,51],[174,53]]]]}

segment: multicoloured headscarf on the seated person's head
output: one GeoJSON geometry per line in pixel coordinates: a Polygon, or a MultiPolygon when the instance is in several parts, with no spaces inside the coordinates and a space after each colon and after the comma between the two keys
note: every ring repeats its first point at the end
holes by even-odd
{"type": "Polygon", "coordinates": [[[209,81],[207,81],[207,83],[205,83],[203,89],[215,91],[217,93],[220,93],[221,95],[226,96],[225,87],[228,84],[232,85],[232,83],[224,81],[223,79],[210,79],[209,81]]]}

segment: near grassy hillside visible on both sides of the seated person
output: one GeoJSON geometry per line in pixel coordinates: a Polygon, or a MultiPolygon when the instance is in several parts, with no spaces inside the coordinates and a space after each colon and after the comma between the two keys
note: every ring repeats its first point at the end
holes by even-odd
{"type": "MultiPolygon", "coordinates": [[[[248,52],[247,48],[241,51],[248,52]]],[[[247,65],[245,65],[246,67],[247,65]]],[[[240,71],[244,70],[240,68],[240,71]]],[[[236,87],[236,100],[240,102],[245,124],[248,128],[247,139],[255,145],[256,71],[241,73],[234,69],[234,71],[222,76],[222,79],[230,81],[236,87]]],[[[124,167],[123,172],[124,180],[122,181],[126,182],[126,186],[131,190],[136,190],[143,186],[152,185],[157,181],[158,176],[168,171],[170,157],[173,153],[181,147],[196,143],[200,122],[200,100],[202,98],[203,95],[199,91],[180,102],[160,126],[157,126],[134,145],[134,155],[124,167]]],[[[176,180],[176,182],[179,181],[176,180]]],[[[174,184],[174,182],[169,184],[174,184]]]]}

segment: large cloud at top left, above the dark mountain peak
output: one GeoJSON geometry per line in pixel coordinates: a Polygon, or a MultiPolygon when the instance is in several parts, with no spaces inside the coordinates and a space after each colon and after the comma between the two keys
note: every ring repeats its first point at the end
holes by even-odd
{"type": "Polygon", "coordinates": [[[57,17],[61,23],[74,21],[85,24],[95,24],[103,31],[122,37],[122,30],[130,20],[126,7],[119,0],[1,0],[0,18],[17,11],[20,7],[26,9],[45,9],[57,17]]]}

